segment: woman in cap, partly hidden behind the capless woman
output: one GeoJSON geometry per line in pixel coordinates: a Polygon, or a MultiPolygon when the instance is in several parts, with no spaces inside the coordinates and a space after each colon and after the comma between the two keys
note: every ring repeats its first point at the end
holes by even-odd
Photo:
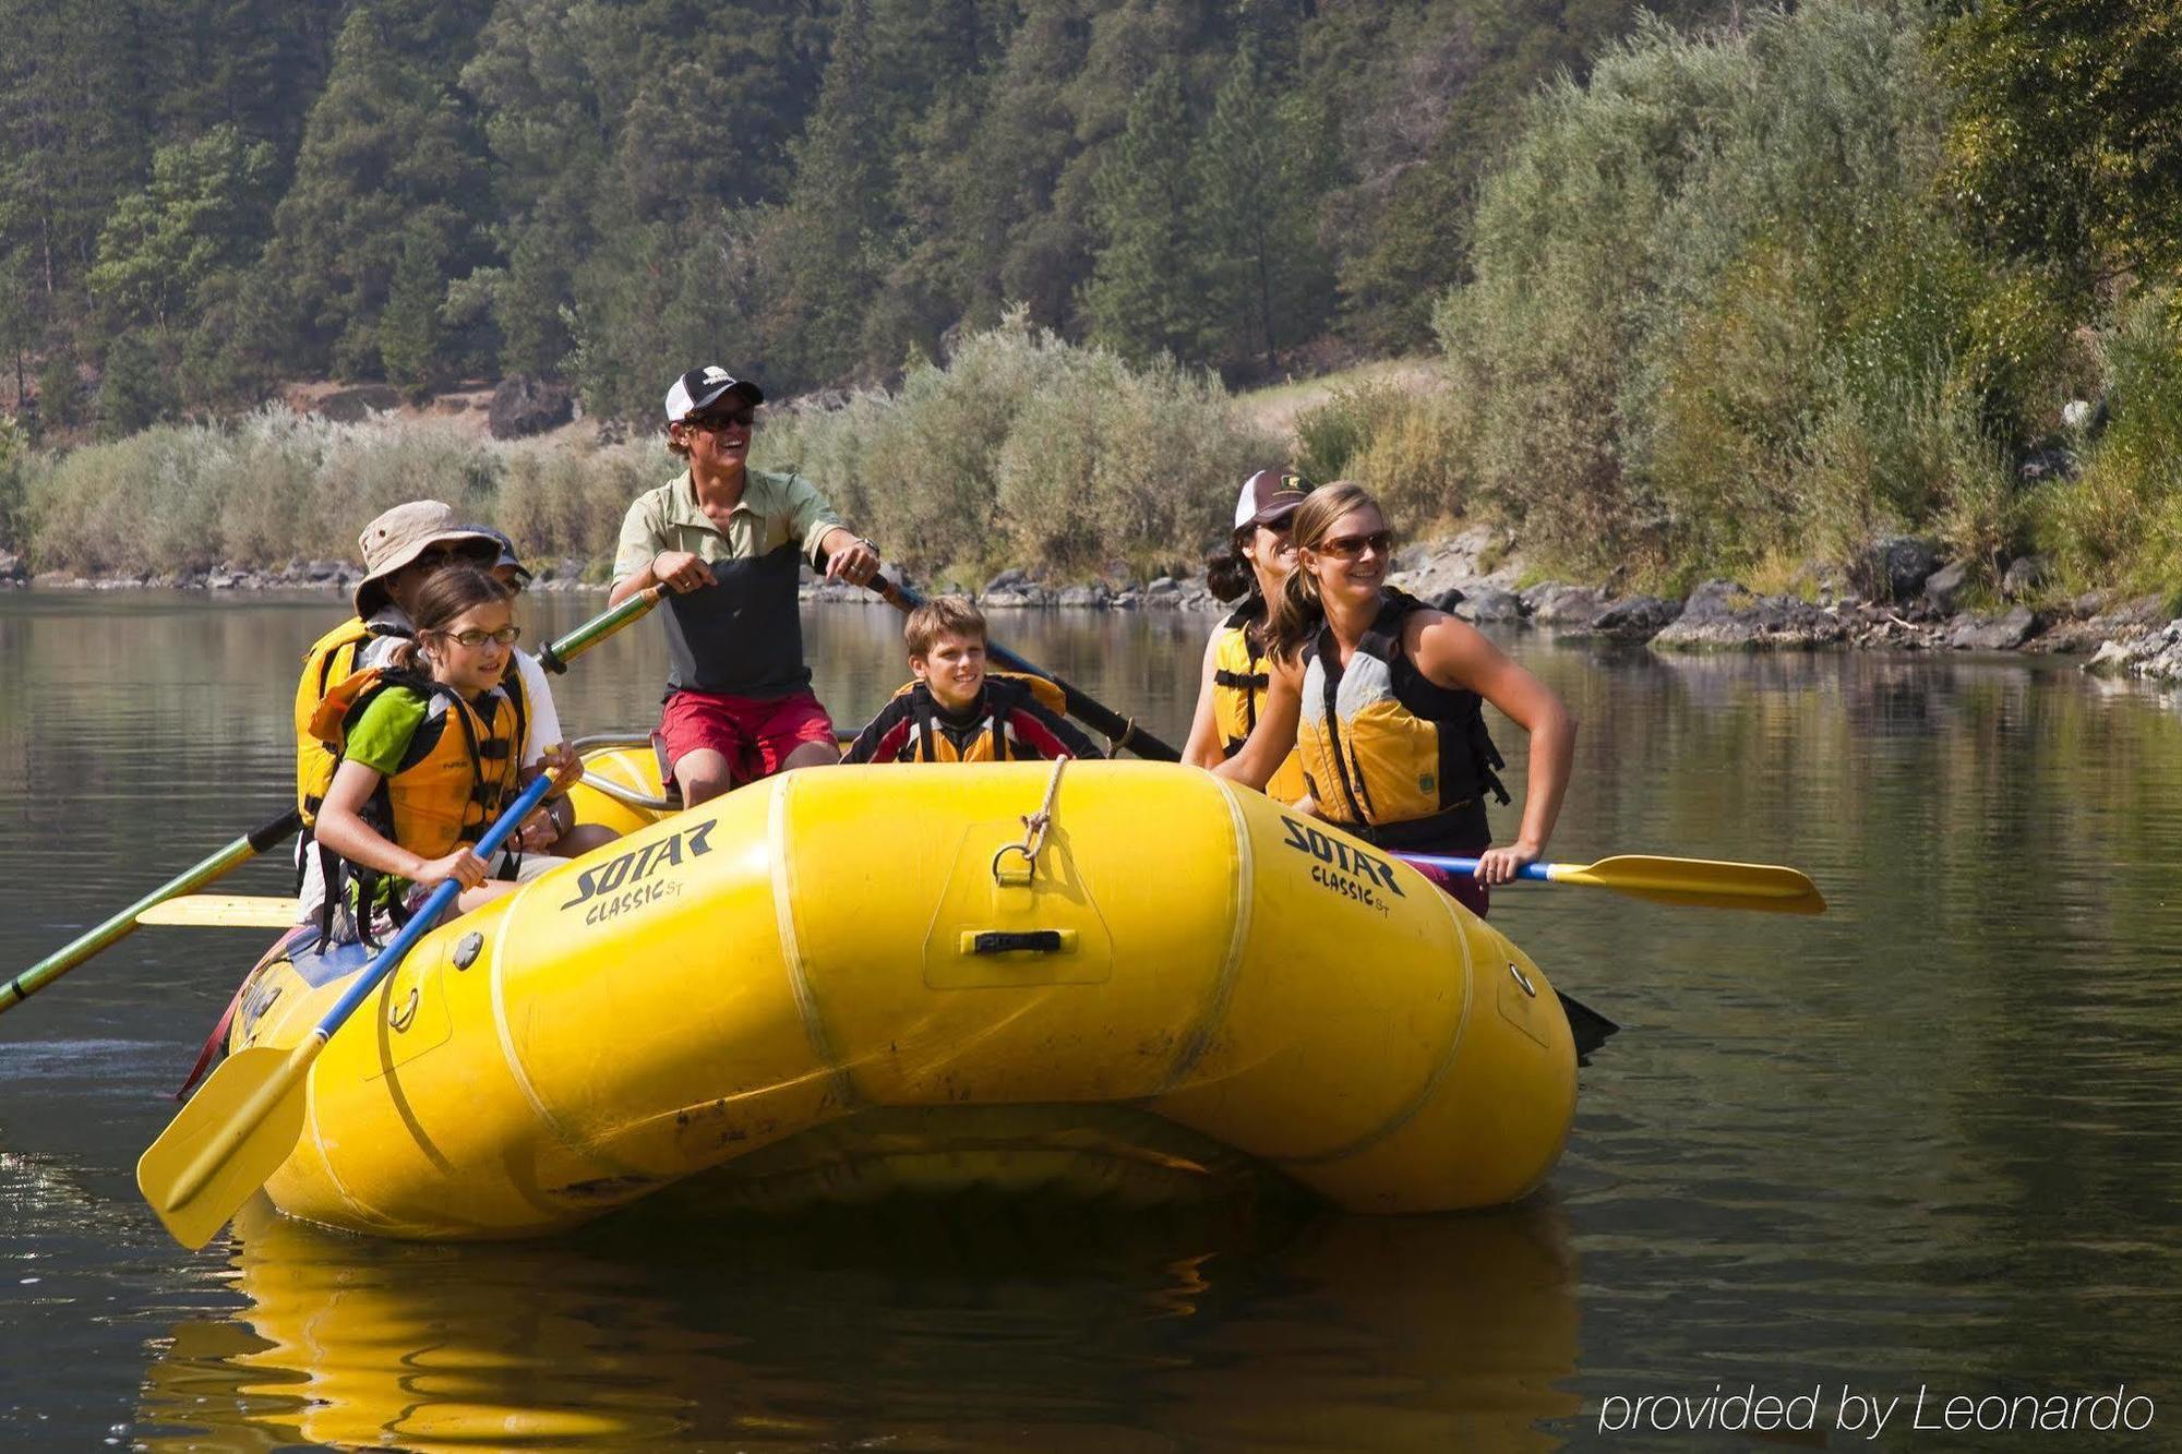
{"type": "MultiPolygon", "coordinates": [[[[1204,644],[1198,712],[1183,744],[1183,762],[1191,766],[1218,766],[1239,753],[1266,712],[1266,690],[1272,683],[1266,659],[1266,603],[1281,592],[1281,581],[1296,568],[1290,524],[1309,493],[1311,482],[1300,474],[1259,469],[1242,482],[1235,533],[1226,550],[1204,557],[1204,583],[1213,596],[1220,600],[1239,596],[1242,605],[1204,644]]],[[[1296,753],[1287,753],[1266,779],[1266,797],[1281,803],[1309,799],[1296,753]]]]}

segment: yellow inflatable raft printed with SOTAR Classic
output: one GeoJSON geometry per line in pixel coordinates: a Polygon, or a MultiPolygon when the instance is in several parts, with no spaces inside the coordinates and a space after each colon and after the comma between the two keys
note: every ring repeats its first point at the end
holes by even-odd
{"type": "MultiPolygon", "coordinates": [[[[417,945],[312,1068],[275,1205],[508,1238],[709,1168],[748,1203],[1248,1159],[1431,1212],[1560,1155],[1575,1052],[1538,967],[1209,773],[823,768],[646,817],[417,945]]],[[[266,965],[231,1044],[308,1035],[362,963],[266,965]]]]}

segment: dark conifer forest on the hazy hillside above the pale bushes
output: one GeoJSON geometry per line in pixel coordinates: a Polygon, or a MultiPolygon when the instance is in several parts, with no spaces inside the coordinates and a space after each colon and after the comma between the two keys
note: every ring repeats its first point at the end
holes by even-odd
{"type": "MultiPolygon", "coordinates": [[[[1674,20],[1722,4],[1663,0],[1674,20]]],[[[729,356],[879,382],[1008,303],[1235,373],[1429,338],[1521,100],[1615,0],[0,0],[0,400],[729,356]]]]}

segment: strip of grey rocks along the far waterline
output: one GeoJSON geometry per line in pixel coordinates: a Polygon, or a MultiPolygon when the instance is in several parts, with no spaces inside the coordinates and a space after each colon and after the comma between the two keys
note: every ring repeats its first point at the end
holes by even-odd
{"type": "MultiPolygon", "coordinates": [[[[807,572],[805,572],[807,574],[807,572]]],[[[1652,651],[1970,651],[2084,657],[2084,670],[2182,683],[2182,618],[2158,596],[2121,600],[2088,594],[2066,603],[2031,600],[2045,563],[2010,565],[1999,611],[1964,609],[1962,565],[1942,563],[1916,539],[1874,548],[1855,572],[1813,565],[1798,594],[1763,596],[1737,581],[1706,581],[1685,600],[1610,585],[1547,581],[1516,589],[1525,568],[1514,541],[1495,526],[1407,546],[1394,585],[1482,627],[1536,627],[1560,637],[1647,644],[1652,651]],[[1855,576],[1855,579],[1853,579],[1855,576]]],[[[585,561],[546,563],[530,589],[602,592],[587,583],[585,561]]],[[[347,561],[295,561],[279,570],[214,568],[185,576],[83,579],[31,574],[20,557],[0,552],[0,589],[323,589],[347,594],[360,572],[347,561]]],[[[879,605],[871,592],[805,579],[805,600],[879,605]]],[[[1006,570],[975,598],[986,609],[1218,611],[1222,603],[1202,576],[1159,576],[1146,583],[1047,585],[1028,570],[1006,570]]]]}

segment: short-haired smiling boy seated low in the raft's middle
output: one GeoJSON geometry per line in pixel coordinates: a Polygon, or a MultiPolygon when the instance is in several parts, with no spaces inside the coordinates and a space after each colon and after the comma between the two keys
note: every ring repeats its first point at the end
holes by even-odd
{"type": "Polygon", "coordinates": [[[934,596],[901,627],[916,679],[879,707],[842,762],[1036,762],[1098,758],[1043,677],[984,670],[984,613],[934,596]],[[1050,692],[1056,701],[1045,701],[1050,692]]]}

